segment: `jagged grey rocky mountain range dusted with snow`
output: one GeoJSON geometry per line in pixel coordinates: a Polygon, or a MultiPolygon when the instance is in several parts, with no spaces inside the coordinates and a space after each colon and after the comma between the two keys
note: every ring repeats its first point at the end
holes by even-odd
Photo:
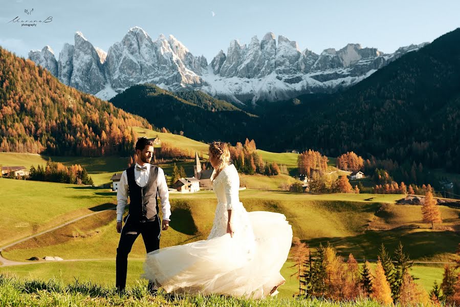
{"type": "Polygon", "coordinates": [[[29,58],[64,84],[110,99],[130,86],[155,83],[169,91],[202,90],[234,103],[286,100],[306,93],[332,93],[356,84],[407,52],[410,45],[384,54],[375,48],[348,44],[316,54],[300,51],[296,41],[273,33],[249,45],[230,42],[210,63],[194,56],[178,39],[156,40],[140,27],[129,29],[107,52],[94,47],[81,32],[65,43],[56,60],[49,46],[29,52],[29,58]]]}

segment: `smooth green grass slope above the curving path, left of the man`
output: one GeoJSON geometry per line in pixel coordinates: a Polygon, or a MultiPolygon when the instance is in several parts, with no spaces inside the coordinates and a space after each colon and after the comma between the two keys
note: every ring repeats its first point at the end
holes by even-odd
{"type": "Polygon", "coordinates": [[[116,203],[115,193],[72,184],[0,178],[0,186],[0,246],[116,203]]]}

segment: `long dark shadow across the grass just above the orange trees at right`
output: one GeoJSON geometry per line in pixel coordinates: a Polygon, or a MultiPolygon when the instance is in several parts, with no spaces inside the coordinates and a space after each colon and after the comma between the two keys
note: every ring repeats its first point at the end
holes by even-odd
{"type": "Polygon", "coordinates": [[[436,255],[455,253],[460,242],[460,234],[454,231],[411,231],[407,229],[387,231],[365,231],[348,237],[322,237],[306,240],[310,247],[330,243],[344,257],[352,253],[355,258],[376,259],[383,243],[392,253],[399,243],[413,260],[435,258],[436,255]]]}

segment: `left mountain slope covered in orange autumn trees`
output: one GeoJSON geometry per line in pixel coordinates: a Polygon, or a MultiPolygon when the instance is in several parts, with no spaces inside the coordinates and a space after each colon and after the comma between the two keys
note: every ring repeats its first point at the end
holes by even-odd
{"type": "Polygon", "coordinates": [[[59,82],[0,48],[0,151],[95,156],[131,153],[128,127],[151,125],[59,82]]]}

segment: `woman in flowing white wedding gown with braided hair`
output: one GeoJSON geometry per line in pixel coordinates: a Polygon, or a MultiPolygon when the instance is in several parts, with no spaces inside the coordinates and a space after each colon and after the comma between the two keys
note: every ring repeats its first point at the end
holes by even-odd
{"type": "Polygon", "coordinates": [[[246,211],[226,143],[211,143],[209,161],[217,206],[208,238],[148,253],[142,277],[168,293],[275,295],[286,281],[279,271],[291,247],[291,226],[283,214],[246,211]]]}

